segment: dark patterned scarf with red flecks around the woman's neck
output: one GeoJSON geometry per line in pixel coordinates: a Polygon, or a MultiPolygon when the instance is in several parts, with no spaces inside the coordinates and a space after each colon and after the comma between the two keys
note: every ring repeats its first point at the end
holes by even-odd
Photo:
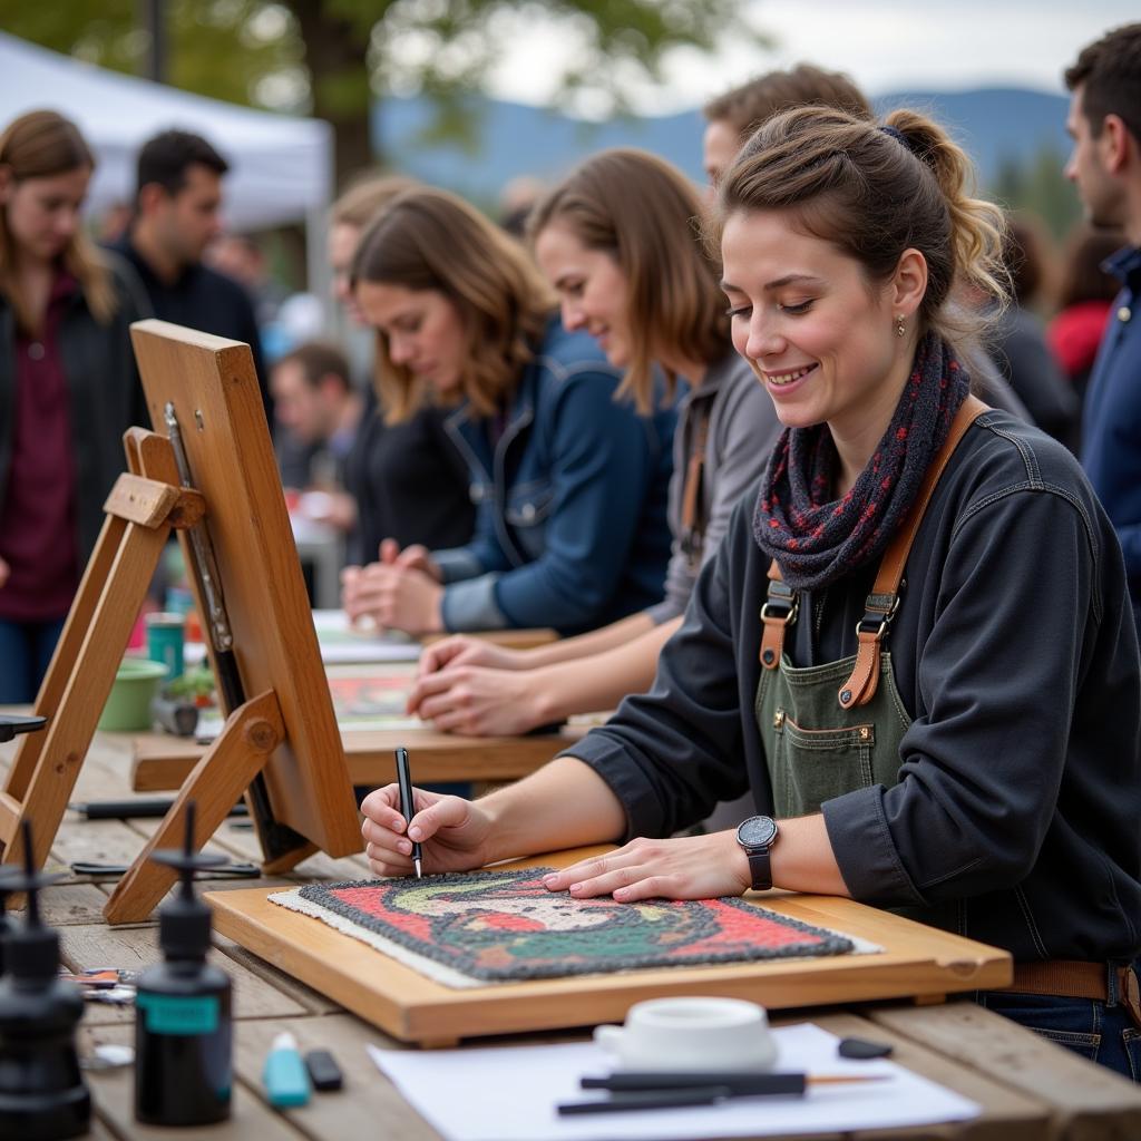
{"type": "Polygon", "coordinates": [[[830,499],[840,456],[828,426],[784,430],[761,484],[753,535],[793,590],[826,586],[884,551],[968,390],[950,348],[928,333],[887,434],[840,500],[830,499]]]}

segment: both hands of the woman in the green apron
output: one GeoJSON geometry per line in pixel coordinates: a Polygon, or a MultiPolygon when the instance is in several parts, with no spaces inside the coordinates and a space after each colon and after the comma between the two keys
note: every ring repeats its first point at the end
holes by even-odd
{"type": "MultiPolygon", "coordinates": [[[[371,792],[361,806],[365,855],[375,875],[408,875],[413,840],[421,844],[428,874],[467,872],[513,855],[496,849],[496,820],[482,801],[421,788],[414,790],[413,799],[416,812],[407,825],[399,812],[395,784],[371,792]]],[[[748,860],[731,830],[670,840],[631,840],[543,880],[549,891],[566,891],[576,899],[610,896],[618,903],[739,896],[751,883],[748,860]]]]}

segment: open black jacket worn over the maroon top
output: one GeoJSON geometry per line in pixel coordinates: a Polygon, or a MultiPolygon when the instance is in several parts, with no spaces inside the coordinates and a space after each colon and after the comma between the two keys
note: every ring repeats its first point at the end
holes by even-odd
{"type": "MultiPolygon", "coordinates": [[[[59,347],[71,400],[75,447],[75,520],[79,553],[86,563],[103,526],[103,504],[127,468],[123,432],[149,428],[151,420],[131,349],[130,324],[151,315],[146,293],[131,267],[118,254],[100,251],[119,298],[111,322],[100,325],[75,293],[59,324],[59,347]]],[[[16,318],[0,297],[0,503],[11,463],[16,398],[16,318]]]]}

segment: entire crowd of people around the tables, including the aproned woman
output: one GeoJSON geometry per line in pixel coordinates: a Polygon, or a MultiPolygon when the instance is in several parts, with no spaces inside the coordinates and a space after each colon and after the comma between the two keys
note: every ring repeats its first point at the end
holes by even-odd
{"type": "Polygon", "coordinates": [[[22,116],[0,135],[0,702],[33,696],[146,422],[130,322],[244,340],[284,478],[332,492],[349,536],[349,617],[452,634],[411,712],[517,734],[617,710],[478,801],[418,790],[405,824],[372,792],[378,874],[413,841],[427,872],[616,842],[550,890],[850,896],[1009,949],[1013,985],[976,1001],[1138,1079],[1141,24],[1066,82],[1087,225],[1059,274],[939,124],[879,121],[809,65],[706,106],[704,195],[607,151],[509,229],[365,178],[329,243],[364,385],[327,341],[266,369],[249,296],[204,262],[227,169],[207,140],[148,143],[98,249],[90,149],[22,116]],[[526,626],[563,637],[468,633],[526,626]]]}

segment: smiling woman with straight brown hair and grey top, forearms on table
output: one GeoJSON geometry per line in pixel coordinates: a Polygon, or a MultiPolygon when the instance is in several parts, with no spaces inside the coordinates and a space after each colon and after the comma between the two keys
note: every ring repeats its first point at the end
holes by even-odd
{"type": "Polygon", "coordinates": [[[533,650],[450,638],[424,650],[410,709],[440,729],[525,733],[615,709],[650,687],[697,573],[760,478],[779,424],[729,341],[720,266],[697,230],[701,200],[669,163],[641,151],[588,159],[534,209],[540,268],[563,323],[584,329],[644,411],[656,377],[686,386],[674,435],[665,598],[602,630],[533,650]]]}

